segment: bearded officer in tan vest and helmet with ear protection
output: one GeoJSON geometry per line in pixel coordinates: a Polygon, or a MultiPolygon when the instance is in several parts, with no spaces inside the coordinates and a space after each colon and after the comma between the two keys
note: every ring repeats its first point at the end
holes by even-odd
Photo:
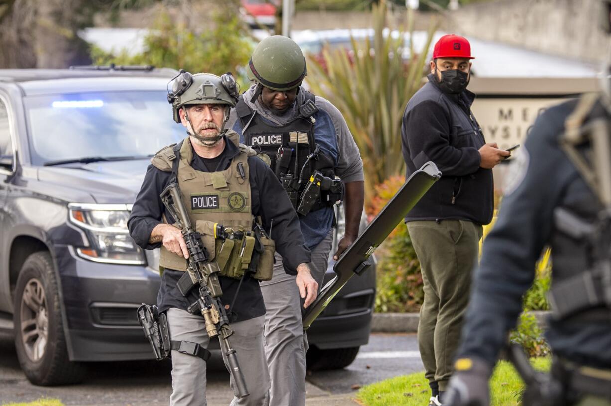
{"type": "MultiPolygon", "coordinates": [[[[159,198],[174,182],[180,186],[192,225],[202,236],[208,261],[221,270],[221,301],[229,314],[234,332],[231,344],[249,391],[246,397],[234,396],[231,405],[268,405],[265,305],[259,284],[272,277],[274,244],[269,234],[276,241],[275,250],[287,258],[287,272],[296,275],[293,283],[305,305],[318,293],[308,266],[310,250],[276,176],[225,126],[238,98],[232,76],[181,72],[169,85],[174,120],[185,126],[187,137],[151,160],[128,228],[140,247],[161,247],[158,307],[167,315],[172,340],[170,405],[206,404],[209,355],[205,321],[199,311],[192,310],[198,289],[185,288],[191,281],[186,272],[189,250],[181,230],[174,226],[176,219],[159,198]]],[[[237,394],[233,379],[231,385],[237,394]]]]}

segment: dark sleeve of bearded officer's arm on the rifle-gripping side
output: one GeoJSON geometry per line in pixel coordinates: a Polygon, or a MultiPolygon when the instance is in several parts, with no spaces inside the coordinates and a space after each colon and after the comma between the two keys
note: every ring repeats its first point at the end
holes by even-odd
{"type": "Polygon", "coordinates": [[[127,222],[130,236],[139,247],[146,250],[161,247],[161,242],[148,244],[148,238],[153,228],[161,223],[165,208],[159,195],[169,183],[171,175],[170,172],[163,172],[153,165],[148,165],[140,192],[131,209],[130,219],[127,222]]]}

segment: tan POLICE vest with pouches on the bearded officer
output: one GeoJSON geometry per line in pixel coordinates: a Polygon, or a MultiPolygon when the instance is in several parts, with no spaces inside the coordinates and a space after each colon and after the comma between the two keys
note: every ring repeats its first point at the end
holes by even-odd
{"type": "MultiPolygon", "coordinates": [[[[178,186],[191,223],[196,231],[202,234],[202,242],[209,259],[218,262],[222,276],[240,278],[244,270],[251,266],[251,259],[255,259],[258,264],[254,264],[257,266],[257,274],[254,277],[269,280],[274,242],[265,236],[257,241],[252,237],[246,238],[247,234],[254,235],[252,226],[255,219],[252,215],[248,157],[254,156],[255,153],[251,148],[238,143],[236,132],[228,131],[227,139],[238,145],[240,153],[232,159],[226,170],[200,172],[193,169],[193,148],[189,137],[177,146],[159,151],[151,163],[166,172],[172,170],[173,166],[177,167],[178,186]],[[178,165],[175,165],[175,159],[179,159],[178,165]],[[235,241],[231,236],[228,240],[222,240],[221,236],[216,234],[216,225],[222,225],[225,230],[238,231],[236,234],[243,236],[243,239],[235,241]],[[255,243],[262,245],[260,255],[252,255],[255,243]]],[[[165,218],[164,222],[167,222],[165,218]]],[[[170,252],[163,245],[159,265],[181,271],[186,271],[188,267],[185,258],[170,252]]]]}

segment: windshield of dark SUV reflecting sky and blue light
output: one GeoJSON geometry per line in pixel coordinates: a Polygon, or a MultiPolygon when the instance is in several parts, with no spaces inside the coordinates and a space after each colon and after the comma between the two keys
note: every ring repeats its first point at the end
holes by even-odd
{"type": "MultiPolygon", "coordinates": [[[[29,96],[32,164],[82,158],[146,158],[185,138],[165,92],[29,96]]],[[[100,159],[103,160],[103,159],[100,159]]]]}

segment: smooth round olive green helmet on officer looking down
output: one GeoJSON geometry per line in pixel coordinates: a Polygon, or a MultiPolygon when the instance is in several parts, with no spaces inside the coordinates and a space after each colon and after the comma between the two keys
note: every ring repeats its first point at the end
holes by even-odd
{"type": "Polygon", "coordinates": [[[305,58],[291,38],[273,35],[258,43],[246,69],[248,78],[273,90],[298,87],[307,75],[305,58]]]}

